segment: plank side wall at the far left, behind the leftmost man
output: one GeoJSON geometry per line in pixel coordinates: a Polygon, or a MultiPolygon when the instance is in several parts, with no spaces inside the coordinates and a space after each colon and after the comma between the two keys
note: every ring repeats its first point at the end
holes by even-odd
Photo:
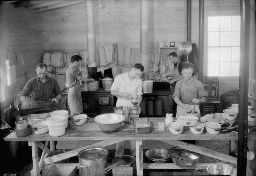
{"type": "Polygon", "coordinates": [[[25,71],[28,79],[36,76],[35,68],[42,62],[43,54],[43,28],[42,12],[26,10],[24,7],[14,8],[13,4],[1,6],[2,13],[2,57],[7,60],[9,50],[10,65],[16,66],[17,82],[6,87],[5,99],[7,106],[1,108],[1,119],[4,119],[4,109],[13,102],[14,92],[19,92],[24,86],[25,71]],[[23,55],[24,65],[17,63],[16,51],[23,55]]]}

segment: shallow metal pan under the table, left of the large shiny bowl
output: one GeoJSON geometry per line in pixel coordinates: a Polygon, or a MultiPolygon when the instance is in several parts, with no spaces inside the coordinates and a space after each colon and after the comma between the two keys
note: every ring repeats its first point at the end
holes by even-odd
{"type": "Polygon", "coordinates": [[[149,149],[146,151],[145,156],[153,163],[165,163],[171,159],[168,149],[149,149]]]}

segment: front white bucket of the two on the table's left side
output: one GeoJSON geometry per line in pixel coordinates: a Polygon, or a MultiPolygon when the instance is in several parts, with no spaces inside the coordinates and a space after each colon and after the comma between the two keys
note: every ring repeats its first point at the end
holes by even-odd
{"type": "Polygon", "coordinates": [[[56,115],[47,118],[47,125],[49,128],[49,135],[52,137],[62,136],[65,134],[66,117],[63,115],[56,115]]]}

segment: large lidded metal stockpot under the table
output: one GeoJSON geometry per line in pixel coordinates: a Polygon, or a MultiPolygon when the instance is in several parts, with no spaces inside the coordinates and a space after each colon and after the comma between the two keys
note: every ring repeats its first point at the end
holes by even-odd
{"type": "Polygon", "coordinates": [[[103,148],[89,148],[77,154],[79,158],[80,176],[106,176],[102,172],[108,164],[108,150],[103,148]]]}

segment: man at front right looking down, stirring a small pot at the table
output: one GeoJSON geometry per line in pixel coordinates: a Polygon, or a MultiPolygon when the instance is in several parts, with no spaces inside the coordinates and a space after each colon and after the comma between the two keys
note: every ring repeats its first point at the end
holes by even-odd
{"type": "Polygon", "coordinates": [[[184,78],[176,83],[173,99],[177,103],[176,116],[187,115],[187,112],[193,110],[197,116],[201,117],[199,104],[205,102],[204,85],[197,79],[192,77],[194,65],[192,63],[183,63],[182,69],[184,78]]]}

